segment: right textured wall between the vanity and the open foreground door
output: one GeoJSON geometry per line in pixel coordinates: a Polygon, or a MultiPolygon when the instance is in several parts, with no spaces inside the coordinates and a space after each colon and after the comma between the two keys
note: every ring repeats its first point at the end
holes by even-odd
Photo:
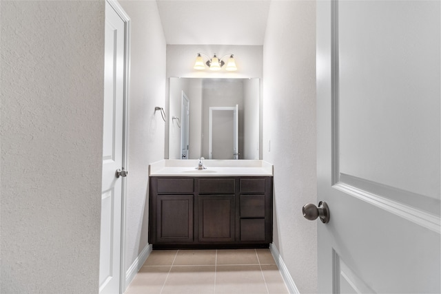
{"type": "Polygon", "coordinates": [[[300,293],[316,293],[317,222],[302,216],[304,204],[317,203],[315,1],[272,1],[263,48],[263,159],[274,164],[274,244],[300,293]]]}

